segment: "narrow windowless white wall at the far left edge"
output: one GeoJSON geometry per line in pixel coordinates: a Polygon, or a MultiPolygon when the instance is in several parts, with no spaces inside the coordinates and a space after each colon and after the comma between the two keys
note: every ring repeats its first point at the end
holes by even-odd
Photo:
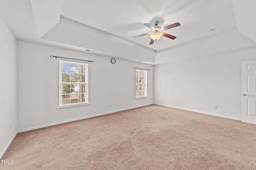
{"type": "Polygon", "coordinates": [[[0,37],[1,158],[17,133],[17,41],[1,18],[0,37]]]}

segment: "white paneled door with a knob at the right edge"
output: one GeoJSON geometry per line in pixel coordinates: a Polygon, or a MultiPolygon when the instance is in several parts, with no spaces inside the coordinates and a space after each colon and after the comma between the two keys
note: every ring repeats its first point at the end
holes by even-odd
{"type": "Polygon", "coordinates": [[[256,124],[256,60],[242,62],[242,121],[256,124]]]}

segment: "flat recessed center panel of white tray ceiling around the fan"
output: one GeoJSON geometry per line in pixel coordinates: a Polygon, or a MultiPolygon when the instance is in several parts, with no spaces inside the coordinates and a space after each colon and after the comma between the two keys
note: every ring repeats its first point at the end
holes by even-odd
{"type": "Polygon", "coordinates": [[[160,50],[236,27],[232,0],[64,0],[61,16],[100,29],[117,37],[160,50]],[[149,33],[143,23],[164,27],[180,22],[179,27],[164,32],[176,36],[175,40],[161,37],[149,45],[150,37],[136,35],[149,33]]]}

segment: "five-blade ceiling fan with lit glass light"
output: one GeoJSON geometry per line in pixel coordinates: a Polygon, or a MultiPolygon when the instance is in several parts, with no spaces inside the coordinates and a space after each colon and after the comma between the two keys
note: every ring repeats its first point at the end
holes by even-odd
{"type": "Polygon", "coordinates": [[[148,27],[149,29],[151,29],[151,32],[150,32],[150,33],[145,33],[145,34],[142,34],[142,35],[137,35],[137,36],[135,36],[135,37],[133,37],[133,38],[137,38],[137,37],[141,37],[141,36],[144,36],[144,35],[151,34],[151,35],[150,35],[151,40],[150,40],[149,45],[153,44],[154,41],[157,41],[158,39],[160,39],[161,36],[164,36],[164,37],[167,37],[167,38],[170,38],[170,39],[176,39],[175,36],[170,35],[170,34],[168,34],[168,33],[164,33],[164,32],[162,32],[162,31],[165,31],[165,30],[167,30],[167,29],[171,29],[171,28],[174,28],[174,27],[178,27],[178,26],[180,26],[180,23],[176,22],[176,23],[174,23],[174,24],[168,25],[168,26],[163,27],[163,28],[160,27],[160,26],[158,26],[158,23],[159,23],[158,21],[155,21],[155,22],[154,22],[154,25],[155,25],[155,26],[150,25],[150,23],[144,23],[144,25],[145,25],[146,27],[148,27]]]}

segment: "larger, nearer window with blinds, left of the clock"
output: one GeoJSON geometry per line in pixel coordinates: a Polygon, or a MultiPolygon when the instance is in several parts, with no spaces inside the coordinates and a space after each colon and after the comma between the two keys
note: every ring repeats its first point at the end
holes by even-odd
{"type": "Polygon", "coordinates": [[[88,63],[60,60],[59,107],[88,104],[88,63]]]}

